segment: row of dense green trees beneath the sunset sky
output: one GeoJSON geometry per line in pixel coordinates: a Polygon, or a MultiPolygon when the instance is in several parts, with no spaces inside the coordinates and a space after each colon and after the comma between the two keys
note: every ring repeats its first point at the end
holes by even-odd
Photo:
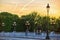
{"type": "Polygon", "coordinates": [[[16,22],[16,31],[26,31],[26,21],[29,21],[29,31],[33,32],[38,26],[41,27],[42,31],[45,31],[48,27],[50,31],[58,31],[60,29],[60,18],[50,18],[47,16],[40,16],[37,12],[32,12],[28,15],[22,15],[21,17],[11,14],[9,12],[0,13],[0,31],[13,31],[13,22],[16,22]],[[2,27],[2,23],[5,26],[2,27]]]}

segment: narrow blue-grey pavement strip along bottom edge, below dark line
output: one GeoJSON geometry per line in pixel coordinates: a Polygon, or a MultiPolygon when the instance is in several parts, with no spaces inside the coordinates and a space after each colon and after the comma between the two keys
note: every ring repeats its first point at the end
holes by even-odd
{"type": "MultiPolygon", "coordinates": [[[[39,39],[39,38],[13,38],[13,37],[0,37],[0,40],[46,40],[46,39],[39,39]]],[[[50,40],[60,40],[60,38],[52,38],[50,40]]]]}

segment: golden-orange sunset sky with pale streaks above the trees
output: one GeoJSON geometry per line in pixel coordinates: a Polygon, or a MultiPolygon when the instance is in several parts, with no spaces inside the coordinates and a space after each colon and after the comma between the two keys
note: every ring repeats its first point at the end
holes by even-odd
{"type": "Polygon", "coordinates": [[[60,0],[0,0],[0,12],[10,12],[22,16],[35,11],[41,16],[46,16],[47,3],[50,5],[49,16],[59,17],[60,0]]]}

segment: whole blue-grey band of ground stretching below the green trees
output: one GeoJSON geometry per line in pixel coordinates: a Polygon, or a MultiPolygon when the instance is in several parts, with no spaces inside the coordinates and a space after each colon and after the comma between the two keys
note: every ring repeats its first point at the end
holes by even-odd
{"type": "MultiPolygon", "coordinates": [[[[36,35],[35,33],[28,33],[28,36],[25,35],[25,32],[1,32],[0,40],[45,40],[45,33],[36,35]]],[[[50,34],[50,40],[60,40],[60,34],[50,34]]]]}

